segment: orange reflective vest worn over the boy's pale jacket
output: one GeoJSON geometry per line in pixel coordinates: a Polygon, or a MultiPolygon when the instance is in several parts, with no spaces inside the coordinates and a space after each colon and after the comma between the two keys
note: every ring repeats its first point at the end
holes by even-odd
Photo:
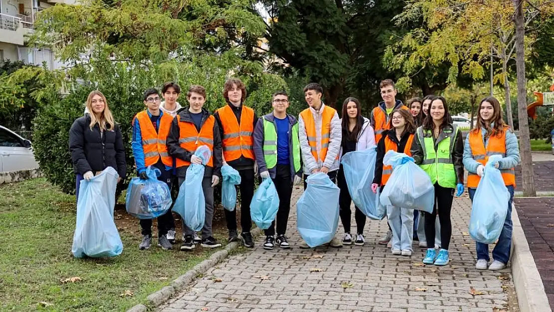
{"type": "MultiPolygon", "coordinates": [[[[319,152],[319,157],[317,155],[317,135],[315,130],[315,120],[314,115],[309,108],[303,110],[300,113],[302,120],[304,120],[304,127],[306,128],[306,135],[308,143],[310,144],[312,155],[316,161],[325,161],[327,157],[327,149],[329,148],[329,136],[331,131],[331,120],[335,116],[337,111],[334,108],[330,108],[325,105],[323,111],[321,112],[321,151],[319,152]]],[[[338,155],[337,158],[338,159],[338,155]]]]}

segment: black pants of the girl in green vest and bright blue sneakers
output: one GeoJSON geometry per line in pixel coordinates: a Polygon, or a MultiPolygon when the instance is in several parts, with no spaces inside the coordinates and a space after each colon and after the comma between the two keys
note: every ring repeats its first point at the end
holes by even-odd
{"type": "Polygon", "coordinates": [[[435,219],[438,214],[440,222],[440,247],[448,250],[450,237],[452,236],[450,211],[452,210],[453,200],[454,188],[442,187],[439,183],[435,183],[435,206],[433,207],[433,213],[423,212],[425,214],[427,248],[435,248],[435,219]]]}

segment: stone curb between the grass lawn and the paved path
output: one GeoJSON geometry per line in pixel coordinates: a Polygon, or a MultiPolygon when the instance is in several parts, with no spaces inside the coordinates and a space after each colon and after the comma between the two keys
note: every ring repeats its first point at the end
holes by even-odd
{"type": "MultiPolygon", "coordinates": [[[[256,227],[250,231],[253,237],[259,236],[261,234],[261,229],[256,227]]],[[[127,312],[146,312],[149,308],[156,308],[157,306],[162,305],[167,299],[170,299],[177,291],[182,290],[192,283],[192,281],[198,277],[198,275],[206,272],[208,269],[211,269],[216,264],[227,258],[235,249],[239,248],[239,242],[229,243],[225,246],[224,249],[218,250],[216,253],[212,254],[208,259],[194,265],[194,267],[188,270],[183,275],[174,279],[171,285],[162,288],[161,290],[156,291],[153,294],[150,294],[146,297],[147,306],[143,304],[137,304],[127,312]]]]}

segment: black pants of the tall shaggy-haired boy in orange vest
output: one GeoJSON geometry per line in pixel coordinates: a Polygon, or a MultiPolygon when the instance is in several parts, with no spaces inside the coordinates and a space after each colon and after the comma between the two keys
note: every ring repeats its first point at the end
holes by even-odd
{"type": "MultiPolygon", "coordinates": [[[[252,217],[250,217],[250,203],[252,197],[254,197],[254,169],[239,170],[240,184],[238,189],[240,191],[240,227],[242,227],[243,233],[250,232],[252,228],[252,217]]],[[[229,231],[237,231],[237,209],[225,212],[225,219],[227,219],[227,229],[229,231]]]]}

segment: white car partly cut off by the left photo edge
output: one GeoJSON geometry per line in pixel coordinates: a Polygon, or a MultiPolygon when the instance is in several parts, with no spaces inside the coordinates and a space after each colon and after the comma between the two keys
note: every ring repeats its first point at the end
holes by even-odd
{"type": "Polygon", "coordinates": [[[0,126],[0,172],[38,168],[31,141],[0,126]]]}

